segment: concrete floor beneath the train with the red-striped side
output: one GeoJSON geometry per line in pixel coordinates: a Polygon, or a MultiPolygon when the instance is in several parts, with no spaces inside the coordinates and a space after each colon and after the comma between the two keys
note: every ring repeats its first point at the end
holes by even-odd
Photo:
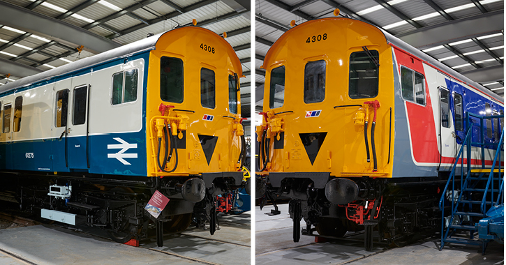
{"type": "MultiPolygon", "coordinates": [[[[332,241],[315,243],[313,236],[301,236],[299,243],[292,241],[292,220],[288,204],[279,205],[281,215],[269,216],[273,206],[262,211],[255,208],[255,262],[260,264],[351,264],[351,265],[427,265],[427,264],[504,264],[504,246],[489,243],[486,255],[478,248],[445,247],[436,248],[433,239],[417,241],[403,248],[387,248],[375,244],[373,251],[364,250],[364,243],[332,241]]],[[[302,220],[301,227],[305,227],[302,220]]],[[[363,235],[355,236],[363,239],[363,235]]]]}

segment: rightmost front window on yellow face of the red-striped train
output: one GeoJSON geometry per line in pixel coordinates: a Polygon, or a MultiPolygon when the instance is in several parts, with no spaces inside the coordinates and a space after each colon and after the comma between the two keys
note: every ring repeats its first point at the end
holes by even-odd
{"type": "MultiPolygon", "coordinates": [[[[379,53],[370,50],[374,59],[379,53]]],[[[350,98],[374,98],[378,96],[378,66],[366,52],[353,52],[350,55],[350,98]]]]}

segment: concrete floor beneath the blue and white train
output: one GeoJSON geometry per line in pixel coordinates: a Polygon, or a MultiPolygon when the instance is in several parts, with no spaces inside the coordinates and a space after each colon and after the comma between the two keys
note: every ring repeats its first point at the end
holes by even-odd
{"type": "Polygon", "coordinates": [[[57,225],[0,229],[0,264],[250,264],[250,219],[223,215],[213,236],[188,229],[165,236],[162,248],[155,239],[135,248],[57,225]]]}

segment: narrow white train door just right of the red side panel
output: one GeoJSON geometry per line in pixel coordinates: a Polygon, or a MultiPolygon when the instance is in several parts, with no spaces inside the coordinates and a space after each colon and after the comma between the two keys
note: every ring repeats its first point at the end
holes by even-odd
{"type": "Polygon", "coordinates": [[[452,158],[455,157],[455,129],[450,104],[452,104],[452,97],[449,90],[445,86],[439,86],[441,164],[453,164],[454,160],[452,158]]]}

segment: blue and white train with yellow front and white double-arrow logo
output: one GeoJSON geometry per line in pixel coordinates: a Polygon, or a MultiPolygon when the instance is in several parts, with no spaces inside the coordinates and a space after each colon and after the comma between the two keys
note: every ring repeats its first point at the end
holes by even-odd
{"type": "Polygon", "coordinates": [[[216,197],[246,185],[244,76],[226,33],[195,23],[0,86],[3,199],[120,243],[214,234],[216,197]]]}

